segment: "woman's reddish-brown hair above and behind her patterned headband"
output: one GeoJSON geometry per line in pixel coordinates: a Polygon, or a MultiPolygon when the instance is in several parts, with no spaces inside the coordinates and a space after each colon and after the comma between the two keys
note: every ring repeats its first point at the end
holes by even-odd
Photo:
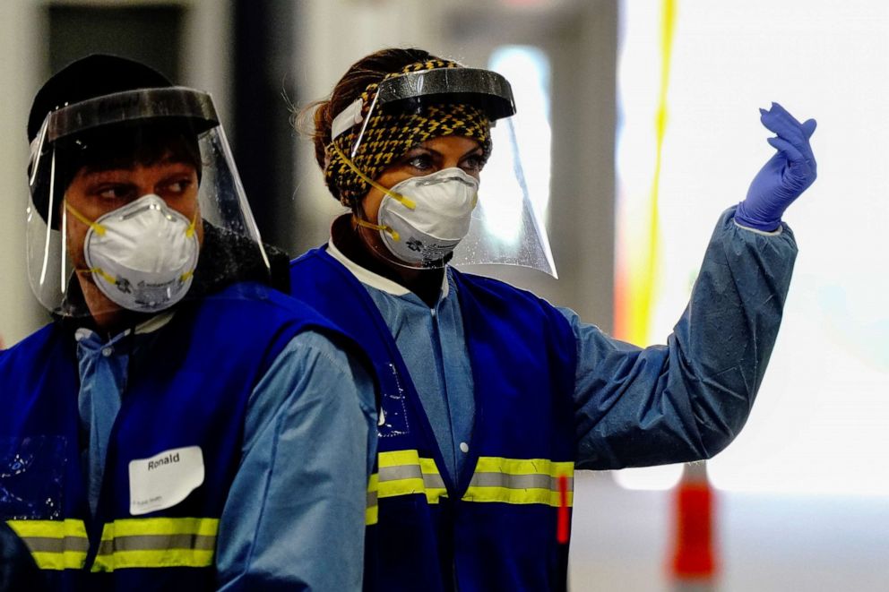
{"type": "Polygon", "coordinates": [[[436,56],[417,47],[380,49],[352,64],[333,87],[330,99],[316,100],[300,109],[296,127],[314,142],[318,166],[324,169],[324,148],[332,140],[331,125],[335,116],[358,99],[367,86],[382,81],[386,74],[400,72],[407,65],[432,59],[436,59],[436,56]],[[310,117],[313,126],[306,125],[310,117]]]}

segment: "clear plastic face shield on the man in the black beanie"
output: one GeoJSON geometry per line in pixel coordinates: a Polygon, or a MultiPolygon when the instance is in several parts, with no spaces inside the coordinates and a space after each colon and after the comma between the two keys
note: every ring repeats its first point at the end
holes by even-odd
{"type": "Polygon", "coordinates": [[[269,270],[201,91],[132,90],[50,112],[31,144],[29,184],[30,286],[51,312],[160,312],[194,295],[200,257],[212,274],[244,261],[269,270]]]}

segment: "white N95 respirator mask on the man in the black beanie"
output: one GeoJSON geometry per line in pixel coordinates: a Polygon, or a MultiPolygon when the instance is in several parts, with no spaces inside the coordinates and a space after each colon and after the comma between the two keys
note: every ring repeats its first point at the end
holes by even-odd
{"type": "Polygon", "coordinates": [[[200,245],[189,220],[160,196],[143,195],[90,225],[83,255],[99,290],[117,305],[154,313],[182,300],[194,279],[200,245]]]}

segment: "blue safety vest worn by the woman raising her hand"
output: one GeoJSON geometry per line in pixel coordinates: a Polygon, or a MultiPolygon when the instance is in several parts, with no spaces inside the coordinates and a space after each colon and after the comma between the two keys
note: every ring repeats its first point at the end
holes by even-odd
{"type": "Polygon", "coordinates": [[[557,542],[557,521],[572,499],[576,365],[565,317],[528,292],[452,270],[476,406],[465,468],[453,482],[367,289],[323,249],[290,270],[293,294],[350,333],[379,379],[365,588],[564,589],[568,545],[557,542]]]}

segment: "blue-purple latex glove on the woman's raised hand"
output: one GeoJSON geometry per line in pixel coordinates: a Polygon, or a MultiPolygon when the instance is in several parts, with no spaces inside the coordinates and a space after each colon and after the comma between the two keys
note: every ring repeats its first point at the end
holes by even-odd
{"type": "Polygon", "coordinates": [[[817,165],[808,139],[815,132],[816,121],[809,119],[800,124],[778,103],[759,112],[763,125],[777,134],[767,142],[778,152],[754,177],[747,199],[738,204],[735,221],[771,232],[781,226],[784,210],[815,182],[817,165]]]}

